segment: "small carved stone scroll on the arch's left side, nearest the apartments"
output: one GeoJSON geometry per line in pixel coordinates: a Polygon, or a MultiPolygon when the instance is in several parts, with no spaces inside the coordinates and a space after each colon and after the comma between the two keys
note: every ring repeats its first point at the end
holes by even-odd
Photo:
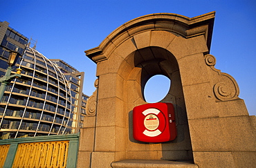
{"type": "Polygon", "coordinates": [[[97,109],[97,95],[98,95],[98,84],[99,80],[95,80],[94,86],[95,86],[95,91],[93,92],[93,95],[91,95],[86,103],[86,115],[88,116],[94,116],[96,115],[96,109],[97,109]]]}

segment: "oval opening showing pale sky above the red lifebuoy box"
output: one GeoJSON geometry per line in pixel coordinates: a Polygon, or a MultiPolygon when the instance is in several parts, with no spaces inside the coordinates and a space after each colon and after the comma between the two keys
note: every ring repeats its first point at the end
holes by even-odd
{"type": "Polygon", "coordinates": [[[160,102],[170,90],[171,80],[165,75],[154,75],[149,78],[144,88],[145,101],[160,102]]]}

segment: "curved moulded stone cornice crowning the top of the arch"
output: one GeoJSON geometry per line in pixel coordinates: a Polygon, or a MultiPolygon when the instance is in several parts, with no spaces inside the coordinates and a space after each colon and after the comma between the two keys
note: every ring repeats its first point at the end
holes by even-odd
{"type": "Polygon", "coordinates": [[[212,29],[215,12],[209,12],[197,17],[185,17],[172,13],[156,13],[138,17],[113,30],[96,48],[84,51],[86,56],[97,63],[107,59],[104,50],[110,45],[118,46],[127,37],[145,30],[168,30],[184,38],[204,35],[205,41],[210,50],[212,40],[212,29]]]}

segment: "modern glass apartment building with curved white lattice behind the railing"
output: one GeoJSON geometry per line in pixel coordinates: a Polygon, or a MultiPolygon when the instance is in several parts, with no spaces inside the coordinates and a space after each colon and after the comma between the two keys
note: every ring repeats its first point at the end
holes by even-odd
{"type": "Polygon", "coordinates": [[[12,73],[23,70],[1,100],[0,139],[77,133],[84,73],[30,48],[28,38],[6,21],[0,22],[0,44],[0,75],[6,72],[10,50],[22,56],[12,73]]]}

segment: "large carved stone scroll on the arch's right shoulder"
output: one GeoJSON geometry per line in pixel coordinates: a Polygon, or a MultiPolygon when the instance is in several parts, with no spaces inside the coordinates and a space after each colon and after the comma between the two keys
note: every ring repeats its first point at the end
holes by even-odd
{"type": "Polygon", "coordinates": [[[235,79],[227,73],[221,73],[214,68],[216,59],[213,55],[205,55],[205,63],[210,66],[212,71],[212,84],[214,95],[218,100],[228,101],[235,100],[239,95],[239,87],[235,79]]]}

